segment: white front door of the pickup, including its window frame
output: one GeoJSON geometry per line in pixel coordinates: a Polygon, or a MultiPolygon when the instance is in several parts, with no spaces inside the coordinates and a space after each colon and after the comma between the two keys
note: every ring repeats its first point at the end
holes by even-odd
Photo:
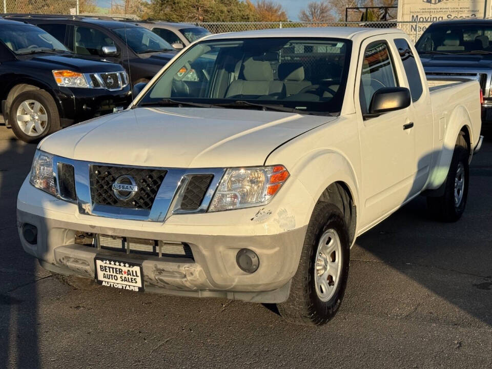
{"type": "Polygon", "coordinates": [[[354,96],[361,146],[363,227],[384,217],[411,196],[415,172],[409,108],[364,117],[374,92],[383,87],[404,87],[400,84],[401,69],[395,63],[395,57],[399,57],[393,51],[396,48],[378,37],[370,37],[361,44],[354,96]]]}

